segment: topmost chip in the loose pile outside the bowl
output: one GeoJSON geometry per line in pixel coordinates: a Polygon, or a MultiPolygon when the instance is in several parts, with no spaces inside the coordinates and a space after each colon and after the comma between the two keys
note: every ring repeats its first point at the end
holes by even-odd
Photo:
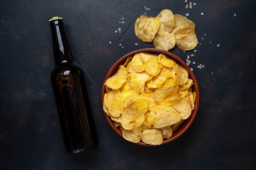
{"type": "Polygon", "coordinates": [[[171,32],[171,30],[175,26],[173,12],[169,9],[164,9],[158,14],[157,18],[159,18],[160,20],[160,27],[158,29],[158,32],[159,31],[171,32]]]}

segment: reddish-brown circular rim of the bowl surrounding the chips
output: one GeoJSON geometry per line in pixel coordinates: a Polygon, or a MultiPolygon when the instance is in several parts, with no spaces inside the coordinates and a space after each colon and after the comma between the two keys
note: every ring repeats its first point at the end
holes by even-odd
{"type": "MultiPolygon", "coordinates": [[[[155,48],[145,48],[145,49],[138,49],[138,50],[135,50],[135,51],[132,51],[126,55],[124,55],[123,57],[119,58],[119,60],[117,60],[115,62],[114,65],[112,65],[112,67],[110,67],[109,71],[108,71],[108,74],[106,75],[104,81],[103,81],[103,85],[102,85],[102,88],[101,88],[101,105],[102,105],[102,108],[103,108],[103,98],[104,98],[104,94],[106,93],[106,89],[105,89],[105,82],[106,80],[110,77],[110,74],[112,74],[114,68],[118,67],[120,65],[120,63],[124,60],[126,60],[126,58],[128,58],[129,56],[134,56],[135,54],[137,53],[140,53],[140,52],[150,52],[150,53],[157,53],[157,54],[160,54],[160,53],[163,53],[163,54],[166,54],[168,56],[168,58],[170,58],[169,56],[171,56],[172,58],[171,59],[174,59],[175,62],[178,61],[179,63],[182,64],[182,67],[185,67],[186,70],[188,70],[189,72],[189,76],[191,76],[192,80],[193,80],[193,83],[194,83],[194,86],[195,86],[195,93],[196,93],[196,98],[195,98],[195,104],[194,104],[194,109],[191,113],[191,115],[189,117],[191,117],[189,119],[189,122],[182,128],[180,129],[179,132],[175,131],[175,136],[171,136],[170,138],[167,138],[166,140],[163,141],[163,144],[165,143],[169,143],[175,139],[177,139],[178,137],[180,137],[189,127],[190,125],[192,124],[192,122],[194,121],[195,119],[195,116],[197,114],[197,111],[198,111],[198,106],[199,106],[199,98],[200,98],[200,94],[199,94],[199,88],[198,88],[198,82],[195,78],[195,75],[193,74],[192,70],[189,68],[188,65],[186,65],[186,63],[181,59],[179,58],[178,56],[176,56],[175,54],[171,53],[171,52],[168,52],[168,51],[164,51],[162,49],[155,49],[155,48]],[[177,133],[176,133],[177,132],[177,133]]],[[[104,110],[103,110],[103,113],[105,114],[105,117],[108,121],[108,123],[110,124],[110,126],[113,128],[113,130],[115,130],[115,132],[117,132],[117,134],[119,134],[121,137],[123,137],[122,135],[122,132],[119,128],[115,127],[112,119],[110,118],[110,116],[108,116],[104,110]]],[[[187,120],[187,119],[186,119],[187,120]]],[[[185,120],[185,121],[186,121],[185,120]]],[[[182,123],[183,124],[183,123],[182,123]]],[[[138,144],[138,145],[144,145],[144,146],[154,146],[154,145],[149,145],[149,144],[146,144],[144,142],[141,142],[139,141],[138,143],[135,143],[135,144],[138,144]]]]}

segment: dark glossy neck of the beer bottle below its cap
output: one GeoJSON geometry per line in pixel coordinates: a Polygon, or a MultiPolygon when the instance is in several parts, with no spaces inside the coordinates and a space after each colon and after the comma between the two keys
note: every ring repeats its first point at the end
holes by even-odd
{"type": "Polygon", "coordinates": [[[52,46],[55,64],[63,65],[72,63],[73,58],[65,33],[63,21],[53,20],[50,22],[50,27],[52,29],[52,46]]]}

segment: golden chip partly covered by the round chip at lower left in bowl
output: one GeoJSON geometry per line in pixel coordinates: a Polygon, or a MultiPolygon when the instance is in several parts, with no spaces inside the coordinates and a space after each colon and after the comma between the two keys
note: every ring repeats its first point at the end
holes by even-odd
{"type": "Polygon", "coordinates": [[[128,107],[145,114],[148,111],[148,101],[139,95],[132,94],[124,98],[124,110],[128,107]]]}

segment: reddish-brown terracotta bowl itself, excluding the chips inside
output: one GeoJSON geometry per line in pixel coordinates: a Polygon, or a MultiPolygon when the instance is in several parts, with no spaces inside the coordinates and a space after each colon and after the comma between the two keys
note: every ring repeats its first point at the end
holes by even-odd
{"type": "MultiPolygon", "coordinates": [[[[182,123],[182,125],[180,125],[178,130],[173,132],[173,135],[170,138],[164,139],[162,144],[165,144],[165,143],[173,141],[174,139],[177,139],[180,135],[182,135],[189,128],[189,126],[191,125],[191,123],[195,119],[195,115],[196,115],[196,112],[198,111],[198,105],[199,105],[198,82],[196,81],[195,76],[194,76],[193,72],[191,71],[191,69],[189,68],[189,66],[187,66],[186,63],[184,63],[184,61],[182,59],[180,59],[179,57],[175,56],[174,54],[172,54],[172,53],[170,53],[168,51],[161,50],[161,49],[147,48],[147,49],[139,49],[137,51],[132,51],[131,53],[126,54],[125,56],[123,56],[122,58],[117,60],[117,62],[110,68],[110,70],[109,70],[109,72],[108,72],[108,74],[107,74],[107,76],[106,76],[106,78],[105,78],[105,80],[103,82],[103,85],[102,85],[102,89],[101,89],[101,103],[102,103],[102,107],[103,107],[103,97],[104,97],[104,94],[106,93],[106,89],[105,89],[105,86],[104,86],[104,83],[106,82],[106,80],[117,71],[117,68],[118,68],[119,65],[122,65],[122,64],[125,63],[126,58],[128,58],[130,56],[134,56],[135,54],[140,53],[140,52],[150,52],[150,53],[155,53],[155,54],[160,54],[160,53],[166,54],[169,58],[175,60],[177,64],[182,65],[185,69],[187,69],[189,71],[189,78],[192,79],[193,83],[194,83],[192,85],[192,91],[196,92],[196,99],[195,99],[194,110],[192,111],[192,113],[189,116],[189,118],[186,119],[182,123]]],[[[110,119],[110,116],[108,116],[105,112],[104,112],[104,114],[105,114],[106,119],[107,119],[108,123],[110,124],[110,126],[120,136],[122,136],[122,131],[119,128],[115,127],[114,122],[110,119]]],[[[138,142],[136,144],[151,146],[151,145],[148,145],[148,144],[146,144],[146,143],[144,143],[142,141],[140,141],[140,142],[138,142]]]]}

